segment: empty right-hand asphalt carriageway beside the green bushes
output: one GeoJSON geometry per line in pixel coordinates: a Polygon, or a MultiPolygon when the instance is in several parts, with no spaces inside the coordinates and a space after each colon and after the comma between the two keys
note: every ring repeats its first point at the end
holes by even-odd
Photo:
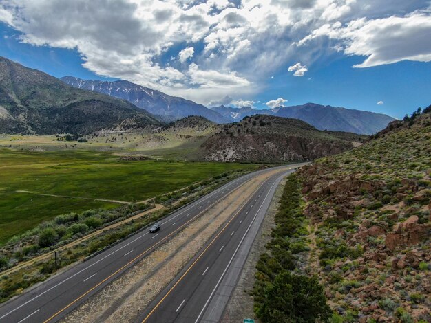
{"type": "Polygon", "coordinates": [[[266,179],[136,322],[218,322],[275,188],[290,172],[266,179]]]}

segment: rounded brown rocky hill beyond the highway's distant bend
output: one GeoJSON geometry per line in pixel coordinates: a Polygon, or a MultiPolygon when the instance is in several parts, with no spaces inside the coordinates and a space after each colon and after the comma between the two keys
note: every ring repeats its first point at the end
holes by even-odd
{"type": "MultiPolygon", "coordinates": [[[[221,131],[202,144],[211,161],[306,161],[341,153],[352,142],[319,131],[300,120],[271,115],[246,117],[220,126],[221,131]]],[[[356,135],[357,142],[364,136],[356,135]]]]}

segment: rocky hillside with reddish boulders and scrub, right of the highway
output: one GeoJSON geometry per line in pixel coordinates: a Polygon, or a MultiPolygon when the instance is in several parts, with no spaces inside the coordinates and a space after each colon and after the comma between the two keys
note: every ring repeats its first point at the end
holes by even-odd
{"type": "Polygon", "coordinates": [[[333,322],[431,322],[431,107],[302,168],[302,266],[333,322]]]}

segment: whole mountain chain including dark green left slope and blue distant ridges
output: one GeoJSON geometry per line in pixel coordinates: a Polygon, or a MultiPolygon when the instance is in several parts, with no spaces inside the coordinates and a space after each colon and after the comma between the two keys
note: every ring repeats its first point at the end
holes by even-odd
{"type": "Polygon", "coordinates": [[[125,80],[85,81],[72,76],[59,80],[0,58],[0,133],[84,135],[101,129],[157,127],[189,115],[226,124],[257,114],[296,118],[319,130],[359,134],[377,133],[394,120],[379,113],[313,103],[266,110],[208,109],[125,80]]]}

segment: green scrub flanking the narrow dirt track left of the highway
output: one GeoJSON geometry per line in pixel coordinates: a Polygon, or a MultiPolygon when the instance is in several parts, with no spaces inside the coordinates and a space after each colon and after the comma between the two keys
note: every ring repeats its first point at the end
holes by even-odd
{"type": "Polygon", "coordinates": [[[123,205],[114,210],[87,210],[81,214],[72,212],[56,216],[51,221],[39,224],[33,230],[14,236],[0,249],[0,271],[8,268],[14,269],[15,265],[41,255],[52,256],[43,256],[41,260],[33,261],[8,274],[2,275],[0,272],[0,303],[22,293],[24,289],[34,283],[45,280],[56,270],[103,251],[110,245],[142,230],[154,221],[159,221],[181,206],[191,203],[246,172],[249,170],[223,172],[198,185],[160,195],[156,197],[156,200],[162,203],[164,208],[154,212],[151,212],[151,208],[154,206],[151,203],[123,205]],[[138,215],[146,210],[149,210],[147,214],[138,215]],[[136,216],[136,219],[121,222],[132,216],[136,216]],[[111,225],[115,223],[119,224],[111,228],[111,225]],[[99,234],[98,230],[104,227],[107,227],[107,230],[99,234]],[[93,232],[97,232],[97,234],[92,234],[93,232]],[[87,238],[89,234],[90,236],[87,238]],[[78,243],[74,243],[80,238],[78,243]],[[70,243],[72,244],[69,245],[70,243]],[[62,246],[67,246],[67,248],[62,246]],[[57,267],[54,263],[54,250],[58,251],[57,267]]]}

